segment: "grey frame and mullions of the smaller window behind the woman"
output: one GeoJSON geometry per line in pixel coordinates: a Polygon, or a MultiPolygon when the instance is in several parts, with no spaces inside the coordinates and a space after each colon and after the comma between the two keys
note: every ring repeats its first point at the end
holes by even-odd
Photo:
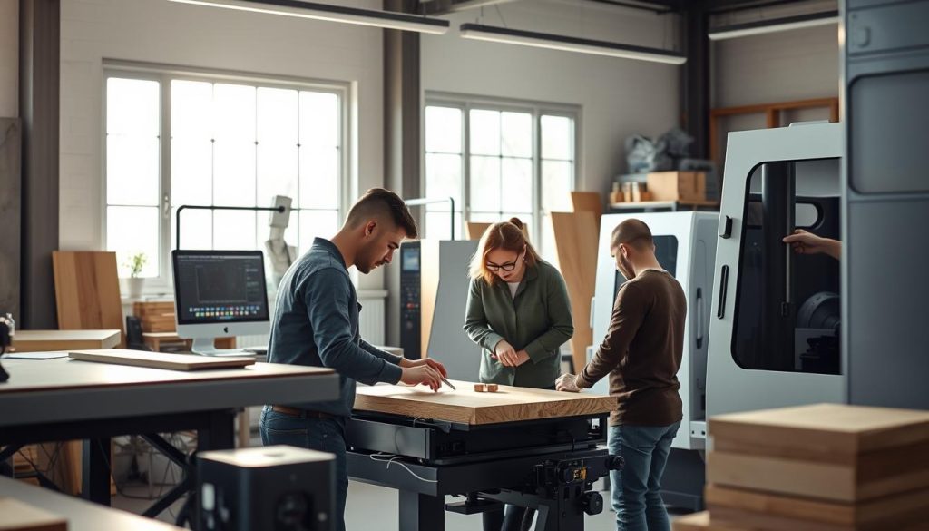
{"type": "MultiPolygon", "coordinates": [[[[578,186],[578,176],[581,173],[580,167],[580,157],[578,153],[580,152],[581,144],[581,130],[582,130],[582,108],[580,105],[572,105],[568,103],[552,103],[544,101],[532,101],[532,100],[515,100],[509,98],[493,98],[486,96],[475,96],[475,95],[466,95],[458,94],[451,92],[437,92],[437,91],[427,91],[425,93],[425,101],[423,106],[422,113],[422,123],[421,127],[423,130],[422,135],[422,146],[421,146],[421,167],[423,168],[420,172],[420,190],[423,191],[423,195],[427,195],[426,192],[426,153],[425,143],[426,143],[426,134],[428,133],[425,128],[425,110],[428,107],[448,107],[455,108],[462,111],[462,162],[461,162],[461,171],[462,171],[462,205],[461,213],[462,219],[461,224],[458,226],[460,238],[464,239],[464,223],[467,222],[472,214],[471,211],[471,120],[470,112],[472,110],[486,110],[486,111],[495,111],[495,112],[514,112],[514,113],[530,113],[532,116],[532,219],[531,226],[532,231],[535,232],[531,235],[533,242],[540,250],[540,252],[547,252],[548,250],[543,250],[541,247],[542,244],[542,234],[543,234],[543,193],[542,193],[542,163],[543,160],[560,160],[560,159],[543,159],[542,156],[542,117],[543,116],[559,116],[566,117],[573,121],[573,131],[572,131],[572,145],[571,153],[573,158],[571,159],[571,165],[573,172],[571,175],[571,190],[577,190],[578,186]]],[[[502,155],[501,155],[502,156],[502,155]]],[[[521,158],[521,157],[517,157],[521,158]]],[[[425,212],[427,208],[423,208],[420,218],[420,224],[424,228],[425,232],[425,212]]],[[[547,213],[547,211],[544,211],[547,213]]]]}

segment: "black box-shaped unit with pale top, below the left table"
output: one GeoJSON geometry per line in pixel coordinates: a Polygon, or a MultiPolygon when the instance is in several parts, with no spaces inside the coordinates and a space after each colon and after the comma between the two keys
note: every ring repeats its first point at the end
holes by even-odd
{"type": "Polygon", "coordinates": [[[335,457],[294,446],[197,455],[197,529],[331,531],[335,457]]]}

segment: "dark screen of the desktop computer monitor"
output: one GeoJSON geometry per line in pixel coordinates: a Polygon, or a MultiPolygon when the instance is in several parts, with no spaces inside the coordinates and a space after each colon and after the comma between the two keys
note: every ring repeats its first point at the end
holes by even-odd
{"type": "Polygon", "coordinates": [[[179,325],[268,321],[261,251],[175,250],[179,325]]]}

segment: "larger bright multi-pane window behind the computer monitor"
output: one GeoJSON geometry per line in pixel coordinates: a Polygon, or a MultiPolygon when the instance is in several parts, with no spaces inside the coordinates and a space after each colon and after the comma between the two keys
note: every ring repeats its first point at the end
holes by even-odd
{"type": "MultiPolygon", "coordinates": [[[[106,73],[105,235],[167,286],[177,206],[271,206],[293,198],[284,239],[306,250],[338,229],[346,182],[343,86],[197,74],[106,73]]],[[[261,249],[268,212],[183,210],[190,249],[261,249]]]]}

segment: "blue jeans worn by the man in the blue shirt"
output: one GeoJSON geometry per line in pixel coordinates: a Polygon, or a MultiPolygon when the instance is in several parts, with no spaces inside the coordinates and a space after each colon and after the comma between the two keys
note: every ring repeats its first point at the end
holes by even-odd
{"type": "Polygon", "coordinates": [[[335,529],[345,531],[348,471],[346,436],[342,423],[334,418],[296,417],[272,411],[266,405],[261,410],[262,445],[291,445],[335,455],[335,529]]]}

